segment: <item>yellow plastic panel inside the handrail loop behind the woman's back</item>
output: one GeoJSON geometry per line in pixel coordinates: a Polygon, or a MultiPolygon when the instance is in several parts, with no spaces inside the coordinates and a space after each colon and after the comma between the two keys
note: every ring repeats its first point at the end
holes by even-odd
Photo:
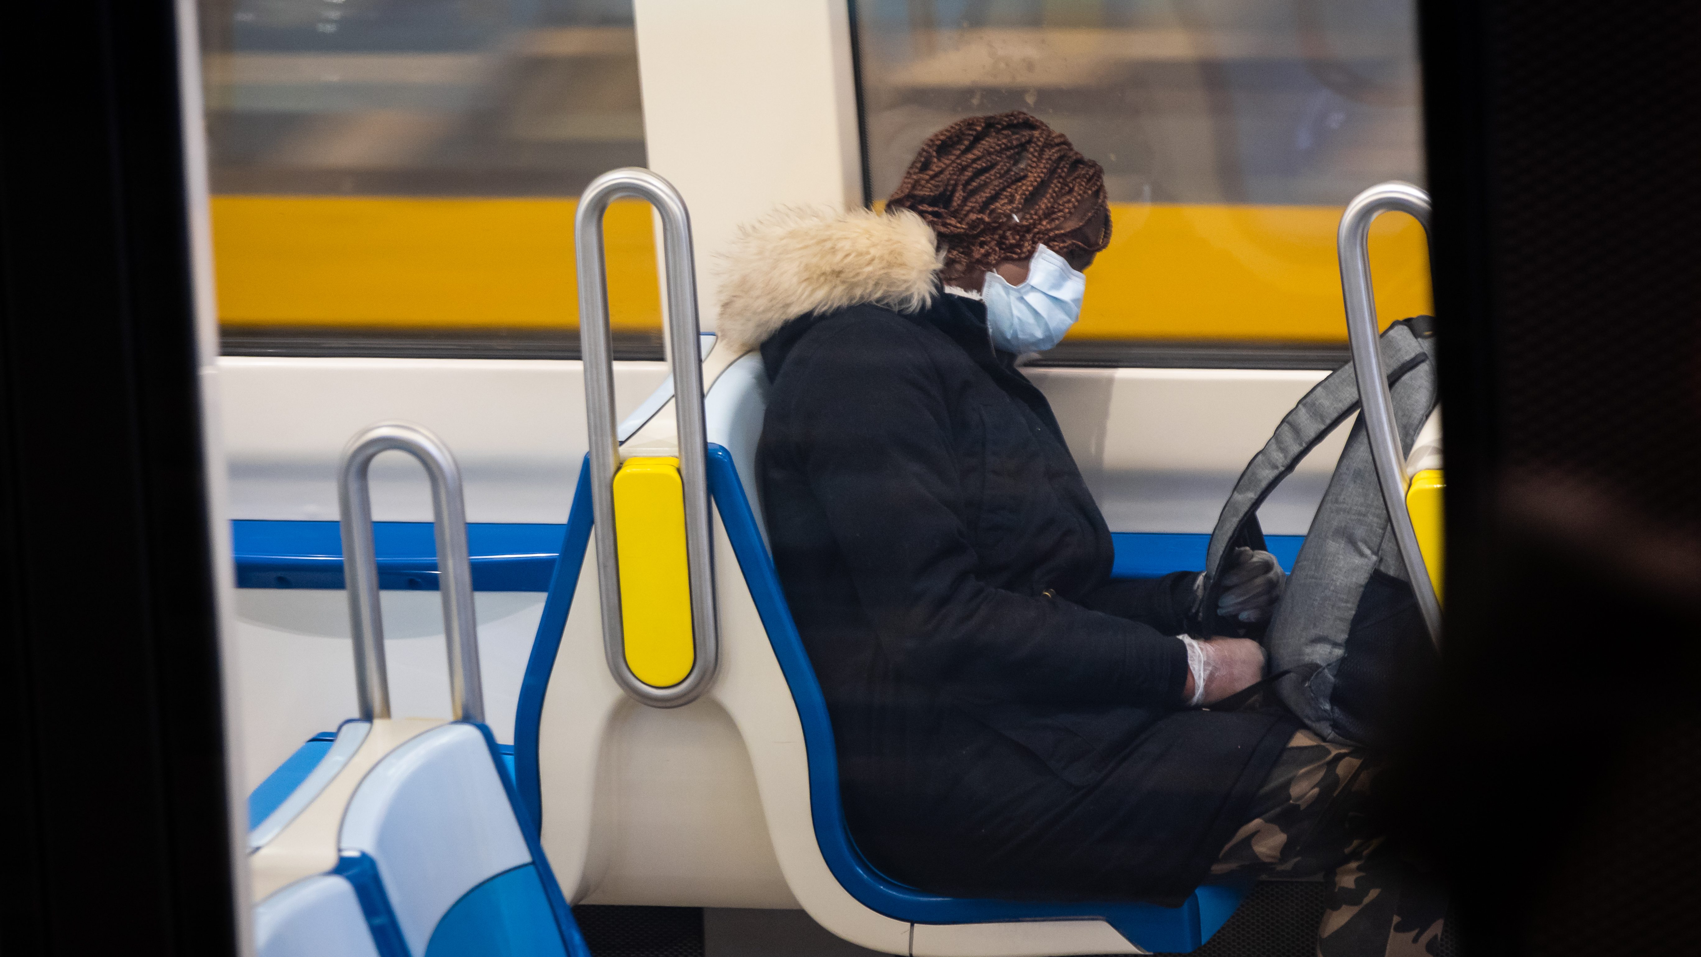
{"type": "Polygon", "coordinates": [[[614,473],[626,666],[651,688],[679,685],[696,661],[686,489],[677,458],[628,458],[614,473]]]}

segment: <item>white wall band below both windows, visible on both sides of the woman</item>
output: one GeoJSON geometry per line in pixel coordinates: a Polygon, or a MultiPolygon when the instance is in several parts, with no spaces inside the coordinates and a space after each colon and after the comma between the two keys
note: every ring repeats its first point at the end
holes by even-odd
{"type": "MultiPolygon", "coordinates": [[[[468,521],[561,523],[585,453],[577,361],[221,359],[233,518],[335,519],[342,444],[381,419],[432,429],[466,475],[468,521]]],[[[636,409],[662,363],[616,363],[636,409]]],[[[1327,373],[1315,370],[1027,370],[1051,400],[1112,531],[1209,531],[1247,461],[1327,373]]],[[[1345,427],[1266,504],[1264,530],[1303,535],[1345,427]]],[[[429,521],[401,455],[373,463],[379,521],[429,521]]]]}

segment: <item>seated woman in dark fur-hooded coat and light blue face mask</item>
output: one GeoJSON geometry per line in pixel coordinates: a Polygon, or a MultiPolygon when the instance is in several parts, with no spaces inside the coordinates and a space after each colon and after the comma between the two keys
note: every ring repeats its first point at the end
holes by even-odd
{"type": "MultiPolygon", "coordinates": [[[[934,135],[886,215],[781,211],[728,261],[721,334],[772,381],[764,507],[850,831],[949,896],[1174,904],[1335,870],[1323,954],[1427,945],[1439,918],[1352,833],[1364,756],[1277,708],[1199,710],[1264,654],[1182,637],[1198,574],[1109,581],[1111,533],[1015,364],[1075,322],[1109,235],[1101,167],[1007,112],[934,135]]],[[[1257,620],[1283,579],[1242,550],[1226,581],[1220,610],[1257,620]]]]}

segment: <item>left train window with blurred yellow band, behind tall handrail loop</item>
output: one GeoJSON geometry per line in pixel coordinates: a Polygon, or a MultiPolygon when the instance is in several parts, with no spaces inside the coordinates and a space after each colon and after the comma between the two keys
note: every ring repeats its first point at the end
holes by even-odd
{"type": "MultiPolygon", "coordinates": [[[[633,0],[201,0],[226,354],[573,356],[575,196],[645,163],[633,0]]],[[[660,358],[650,211],[616,349],[660,358]]]]}

